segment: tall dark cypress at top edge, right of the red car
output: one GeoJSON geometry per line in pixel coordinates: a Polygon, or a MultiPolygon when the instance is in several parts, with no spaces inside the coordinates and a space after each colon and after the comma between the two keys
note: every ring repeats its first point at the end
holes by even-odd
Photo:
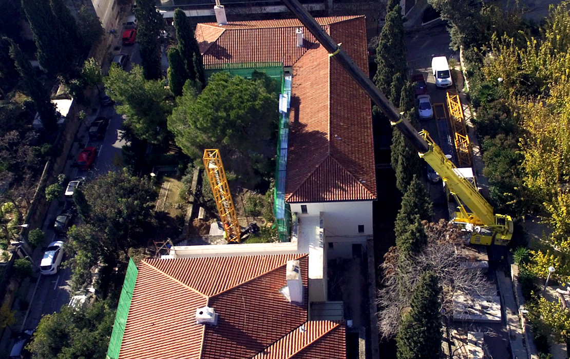
{"type": "Polygon", "coordinates": [[[146,80],[158,80],[162,77],[160,57],[160,35],[164,30],[162,14],[156,10],[154,0],[137,0],[135,16],[139,20],[137,38],[144,77],[146,80]]]}

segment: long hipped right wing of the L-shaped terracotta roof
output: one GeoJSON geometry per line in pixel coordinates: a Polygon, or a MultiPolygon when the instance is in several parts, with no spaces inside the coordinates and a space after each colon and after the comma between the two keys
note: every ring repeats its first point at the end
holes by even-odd
{"type": "MultiPolygon", "coordinates": [[[[368,73],[364,17],[328,32],[368,73]]],[[[292,92],[301,100],[291,102],[285,200],[376,199],[370,99],[324,48],[309,52],[293,66],[292,92]]]]}

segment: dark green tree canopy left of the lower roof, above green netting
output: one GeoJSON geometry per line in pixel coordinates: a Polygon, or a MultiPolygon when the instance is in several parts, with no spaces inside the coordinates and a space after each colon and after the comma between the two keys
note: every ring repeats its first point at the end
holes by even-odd
{"type": "MultiPolygon", "coordinates": [[[[74,201],[86,224],[68,231],[74,288],[91,284],[91,267],[99,264],[125,270],[131,247],[146,244],[153,228],[157,193],[147,179],[123,172],[108,172],[76,189],[74,201]]],[[[109,280],[109,279],[105,279],[109,280]]],[[[107,283],[103,283],[107,284],[107,283]]]]}

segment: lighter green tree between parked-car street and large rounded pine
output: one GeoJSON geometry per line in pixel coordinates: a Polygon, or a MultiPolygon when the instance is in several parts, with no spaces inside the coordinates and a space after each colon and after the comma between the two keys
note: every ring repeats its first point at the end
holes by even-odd
{"type": "Polygon", "coordinates": [[[143,68],[137,65],[131,72],[112,66],[103,81],[109,96],[121,104],[116,109],[125,117],[124,126],[137,138],[161,143],[168,135],[166,118],[173,107],[170,92],[162,82],[146,80],[143,68]]]}

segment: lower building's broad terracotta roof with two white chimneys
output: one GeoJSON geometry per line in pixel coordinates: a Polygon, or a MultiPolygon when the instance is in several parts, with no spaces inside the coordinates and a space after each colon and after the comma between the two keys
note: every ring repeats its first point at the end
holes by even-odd
{"type": "Polygon", "coordinates": [[[300,355],[321,340],[321,353],[336,354],[339,343],[344,350],[344,327],[307,322],[307,272],[306,254],[143,260],[119,358],[251,358],[274,345],[300,355]],[[291,259],[300,261],[300,306],[279,293],[291,259]],[[206,305],[218,313],[217,325],[196,324],[196,309],[206,305]],[[310,340],[295,333],[303,324],[310,340]]]}

